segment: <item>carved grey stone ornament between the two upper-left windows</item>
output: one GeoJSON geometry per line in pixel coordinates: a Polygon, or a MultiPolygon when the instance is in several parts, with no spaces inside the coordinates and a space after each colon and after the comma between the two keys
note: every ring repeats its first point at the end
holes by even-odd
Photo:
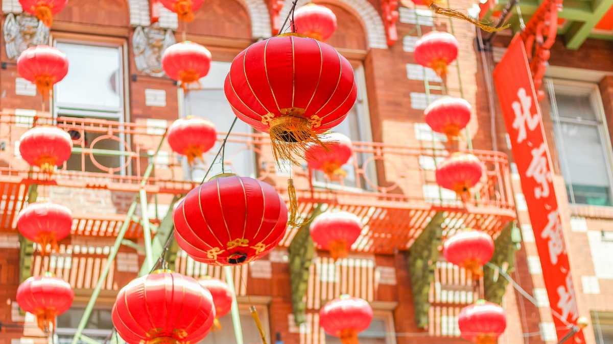
{"type": "Polygon", "coordinates": [[[176,42],[172,30],[162,29],[157,23],[146,28],[137,26],[132,36],[136,68],[154,77],[161,77],[164,75],[162,53],[176,42]]]}

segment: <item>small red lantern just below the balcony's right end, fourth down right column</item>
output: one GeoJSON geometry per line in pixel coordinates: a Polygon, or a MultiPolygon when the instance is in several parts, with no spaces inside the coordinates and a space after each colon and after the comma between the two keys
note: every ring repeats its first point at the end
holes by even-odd
{"type": "Polygon", "coordinates": [[[482,266],[494,253],[492,237],[482,231],[465,230],[445,240],[443,255],[449,263],[472,272],[474,279],[483,275],[482,266]]]}

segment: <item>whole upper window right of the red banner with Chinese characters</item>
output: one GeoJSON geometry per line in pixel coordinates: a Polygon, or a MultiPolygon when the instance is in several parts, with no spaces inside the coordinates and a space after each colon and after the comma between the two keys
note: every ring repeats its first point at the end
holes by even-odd
{"type": "Polygon", "coordinates": [[[560,169],[571,203],[611,206],[611,143],[595,84],[547,81],[560,169]]]}

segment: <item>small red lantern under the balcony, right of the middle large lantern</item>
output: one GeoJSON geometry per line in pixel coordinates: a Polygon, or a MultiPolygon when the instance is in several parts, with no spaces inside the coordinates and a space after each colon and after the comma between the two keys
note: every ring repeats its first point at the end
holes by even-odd
{"type": "Polygon", "coordinates": [[[362,233],[360,219],[351,212],[324,212],[311,222],[311,237],[321,249],[330,250],[334,260],[345,258],[362,233]]]}

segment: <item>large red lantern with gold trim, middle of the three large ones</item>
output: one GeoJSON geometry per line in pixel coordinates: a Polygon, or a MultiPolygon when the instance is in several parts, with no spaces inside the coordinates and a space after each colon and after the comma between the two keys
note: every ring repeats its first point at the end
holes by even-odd
{"type": "Polygon", "coordinates": [[[283,239],[287,208],[265,182],[222,175],[191,190],[173,220],[177,243],[194,260],[243,264],[266,255],[283,239]]]}

